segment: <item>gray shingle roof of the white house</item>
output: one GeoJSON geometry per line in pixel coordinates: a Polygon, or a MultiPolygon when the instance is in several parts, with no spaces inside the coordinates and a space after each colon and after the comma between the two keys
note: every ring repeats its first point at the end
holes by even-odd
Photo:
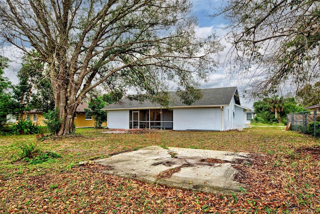
{"type": "MultiPolygon", "coordinates": [[[[169,107],[196,107],[196,106],[222,106],[229,105],[232,97],[234,96],[235,103],[240,105],[239,95],[237,87],[219,87],[219,88],[207,88],[201,89],[202,98],[196,100],[191,105],[182,103],[180,98],[174,93],[170,92],[169,107]]],[[[143,102],[137,100],[129,100],[128,98],[120,99],[119,103],[112,103],[106,105],[103,110],[112,109],[137,109],[137,108],[161,108],[158,103],[153,103],[149,100],[143,102]]]]}

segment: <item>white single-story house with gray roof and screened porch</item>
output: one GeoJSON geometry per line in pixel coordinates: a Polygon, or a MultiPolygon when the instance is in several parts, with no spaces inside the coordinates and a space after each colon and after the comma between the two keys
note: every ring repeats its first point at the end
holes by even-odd
{"type": "Polygon", "coordinates": [[[228,130],[243,128],[245,107],[240,105],[237,87],[201,89],[202,98],[183,104],[170,92],[169,107],[151,101],[122,98],[103,110],[108,111],[108,128],[228,130]]]}

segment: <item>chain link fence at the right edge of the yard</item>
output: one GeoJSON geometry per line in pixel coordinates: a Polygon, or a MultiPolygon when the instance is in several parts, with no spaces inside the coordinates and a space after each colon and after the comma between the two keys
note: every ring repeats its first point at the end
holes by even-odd
{"type": "Polygon", "coordinates": [[[317,122],[319,116],[320,112],[317,110],[289,113],[286,115],[288,121],[286,129],[319,137],[320,122],[317,122]]]}

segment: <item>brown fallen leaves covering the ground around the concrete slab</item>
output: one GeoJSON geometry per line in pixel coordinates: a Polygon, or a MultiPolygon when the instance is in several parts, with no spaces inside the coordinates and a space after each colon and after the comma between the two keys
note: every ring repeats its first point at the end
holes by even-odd
{"type": "MultiPolygon", "coordinates": [[[[261,133],[260,129],[257,131],[261,133]]],[[[251,135],[253,142],[250,146],[246,146],[244,142],[236,149],[231,148],[230,150],[260,149],[260,152],[257,153],[264,153],[264,155],[252,155],[250,162],[237,163],[239,172],[235,179],[243,184],[239,186],[241,191],[238,193],[208,194],[176,189],[156,183],[144,183],[135,179],[106,174],[104,170],[108,166],[96,163],[73,164],[70,167],[63,167],[60,163],[61,160],[59,160],[56,163],[58,167],[50,164],[30,166],[25,163],[12,163],[10,165],[2,158],[1,166],[5,167],[0,169],[0,213],[320,212],[320,146],[318,142],[312,138],[290,132],[283,132],[287,135],[287,139],[282,136],[282,141],[280,137],[277,137],[277,133],[273,133],[274,137],[272,138],[272,134],[269,133],[264,135],[262,133],[258,136],[254,135],[252,130],[249,132],[253,133],[251,135]],[[258,144],[260,140],[254,139],[254,137],[263,139],[263,143],[258,144]],[[282,148],[277,149],[276,144],[280,144],[282,148]],[[254,148],[254,145],[257,147],[254,148]]],[[[180,141],[183,141],[178,140],[175,144],[172,143],[173,140],[183,137],[183,134],[178,136],[179,134],[180,132],[176,132],[175,135],[170,133],[172,138],[168,138],[168,143],[165,146],[176,146],[180,141]]],[[[220,134],[217,133],[217,135],[220,134]]],[[[226,143],[231,137],[241,138],[232,131],[223,134],[226,143]]],[[[191,144],[192,141],[196,141],[196,138],[201,137],[198,132],[187,133],[187,135],[191,136],[189,137],[191,144]]],[[[139,138],[141,136],[126,134],[126,137],[132,139],[132,137],[139,138]]],[[[157,137],[161,137],[161,134],[158,134],[157,137]]],[[[154,139],[154,143],[159,144],[157,137],[151,137],[151,139],[154,139]]],[[[208,137],[207,133],[204,133],[202,137],[208,137]]],[[[118,135],[118,138],[130,141],[123,135],[118,135]]],[[[148,138],[150,139],[149,136],[148,138]]],[[[212,141],[212,139],[209,140],[212,141]]],[[[243,140],[245,139],[243,138],[243,140]]],[[[217,138],[214,137],[214,140],[217,138]]],[[[44,143],[49,144],[49,142],[44,143]]],[[[65,142],[63,147],[67,148],[68,143],[65,142]]],[[[72,145],[74,148],[81,147],[75,142],[72,145]]],[[[85,144],[83,143],[83,145],[85,144]]],[[[5,146],[4,143],[3,146],[5,146]]],[[[101,150],[98,146],[96,150],[86,149],[83,153],[81,151],[72,153],[70,149],[67,153],[60,153],[70,158],[68,160],[64,157],[65,161],[75,161],[76,158],[96,156],[101,150]]],[[[136,144],[132,144],[132,146],[126,144],[126,149],[132,149],[134,146],[136,144]]],[[[223,144],[217,142],[210,149],[217,149],[214,146],[223,148],[223,144]]],[[[105,145],[102,144],[101,147],[105,147],[105,145]]],[[[118,149],[123,147],[123,145],[119,146],[118,149]]],[[[113,152],[117,151],[119,150],[113,150],[113,152]]],[[[111,150],[104,149],[100,153],[111,153],[111,150]]],[[[1,154],[6,155],[4,152],[1,154]]],[[[169,174],[168,171],[166,176],[169,174]]]]}

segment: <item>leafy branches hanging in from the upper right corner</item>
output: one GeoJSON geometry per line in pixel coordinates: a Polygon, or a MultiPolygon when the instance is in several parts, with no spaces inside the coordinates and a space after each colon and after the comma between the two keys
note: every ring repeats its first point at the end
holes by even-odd
{"type": "Polygon", "coordinates": [[[236,71],[250,75],[254,92],[295,89],[319,80],[318,0],[229,0],[222,13],[236,71]],[[286,84],[288,85],[288,84],[286,84]]]}

